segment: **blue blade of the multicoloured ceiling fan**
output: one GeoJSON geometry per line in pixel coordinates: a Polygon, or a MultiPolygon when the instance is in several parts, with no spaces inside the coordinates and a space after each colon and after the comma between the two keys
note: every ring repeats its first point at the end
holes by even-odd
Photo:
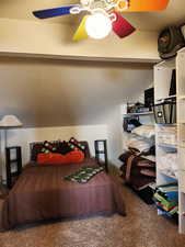
{"type": "Polygon", "coordinates": [[[77,5],[67,5],[48,10],[34,11],[33,14],[39,19],[55,18],[60,15],[70,14],[70,9],[77,5]]]}

